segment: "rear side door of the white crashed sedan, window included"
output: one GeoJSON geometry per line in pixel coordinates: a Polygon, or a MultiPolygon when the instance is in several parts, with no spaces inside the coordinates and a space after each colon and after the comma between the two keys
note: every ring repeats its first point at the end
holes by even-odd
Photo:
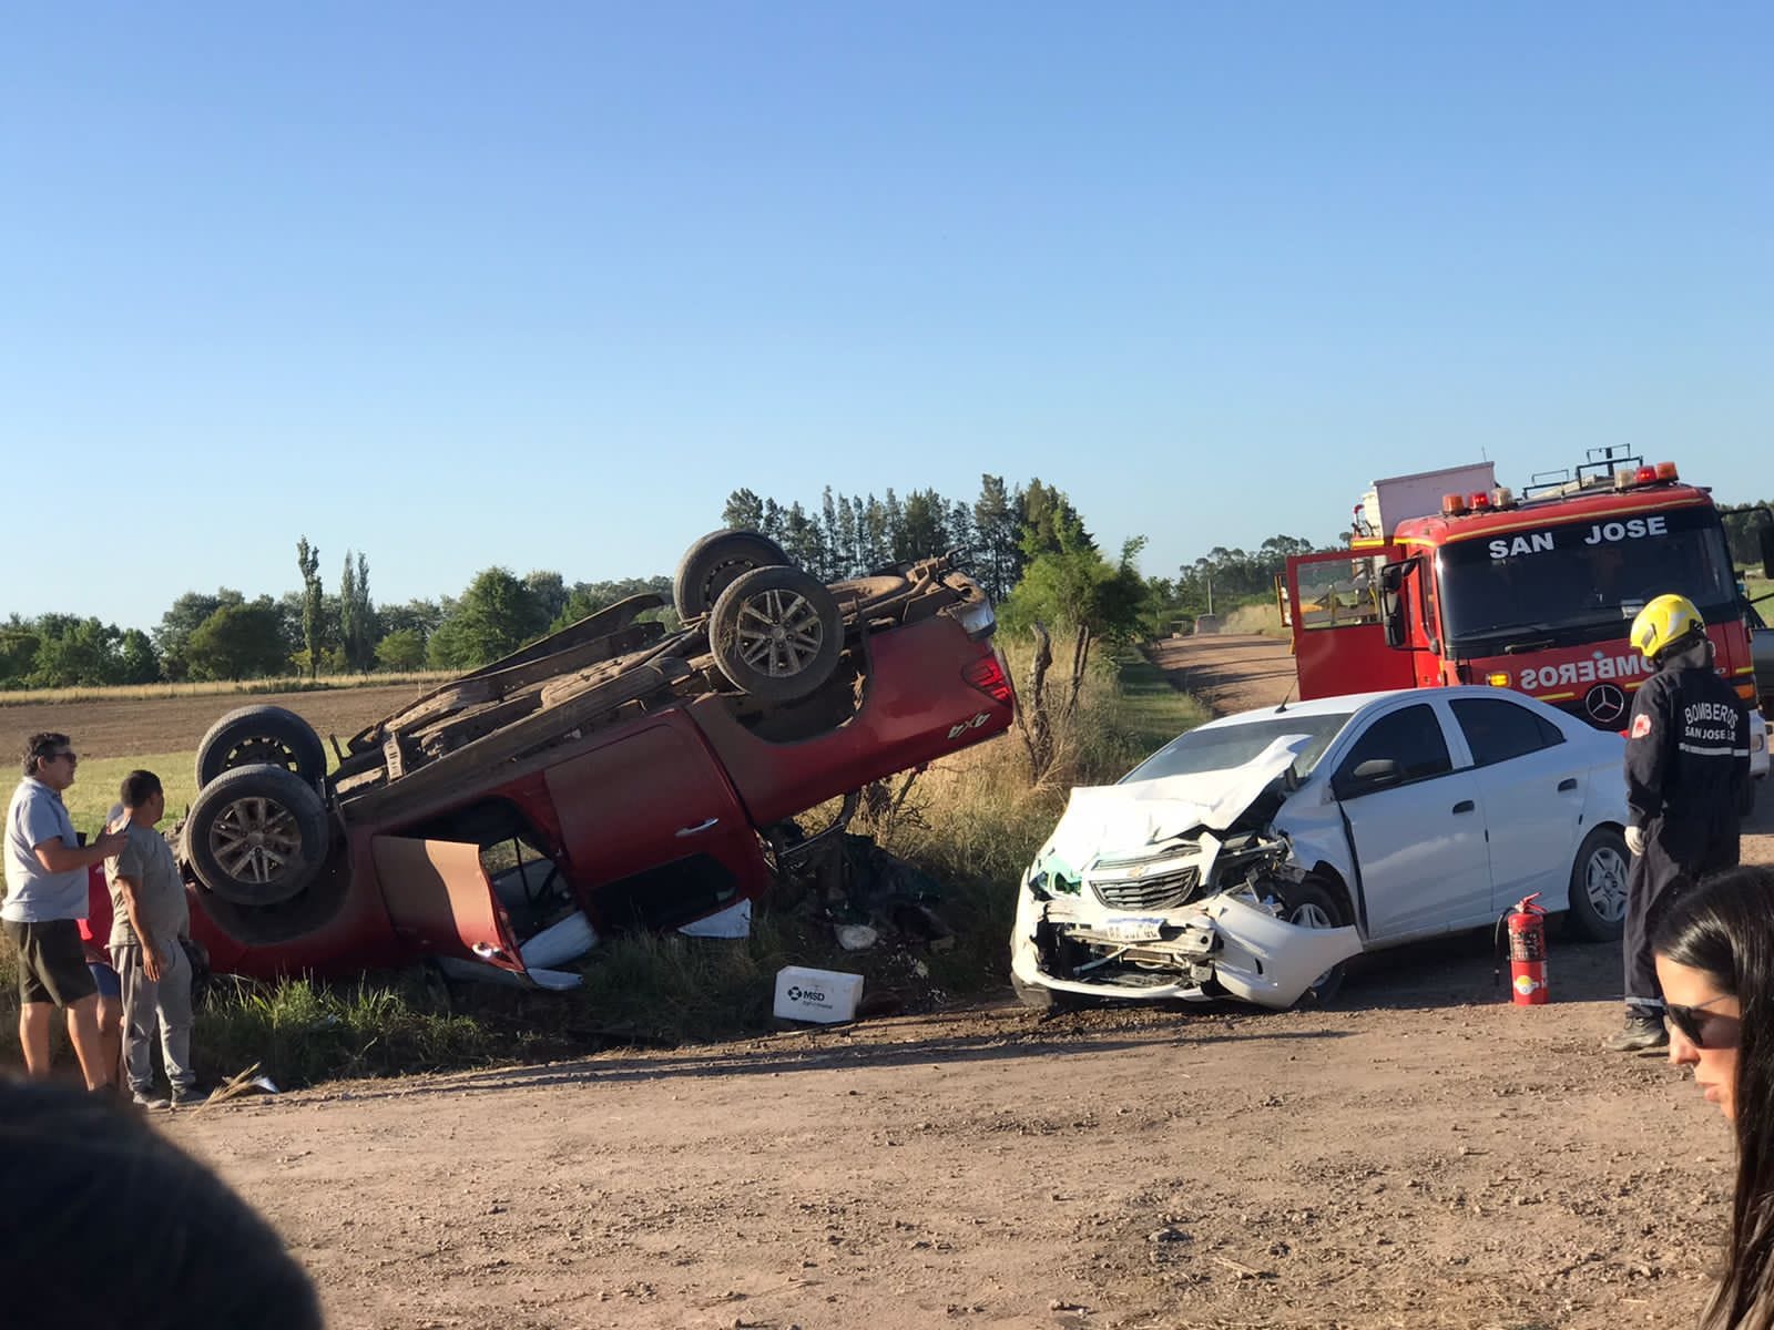
{"type": "Polygon", "coordinates": [[[1590,754],[1508,697],[1460,697],[1448,706],[1472,750],[1490,828],[1492,915],[1533,892],[1558,908],[1577,853],[1590,754]]]}

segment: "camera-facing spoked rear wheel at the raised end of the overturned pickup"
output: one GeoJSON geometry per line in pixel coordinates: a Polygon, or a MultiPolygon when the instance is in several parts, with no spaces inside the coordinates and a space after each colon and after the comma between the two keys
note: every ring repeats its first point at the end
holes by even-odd
{"type": "Polygon", "coordinates": [[[765,702],[793,702],[832,677],[844,619],[830,587],[811,573],[754,567],[715,601],[708,649],[734,686],[765,702]]]}

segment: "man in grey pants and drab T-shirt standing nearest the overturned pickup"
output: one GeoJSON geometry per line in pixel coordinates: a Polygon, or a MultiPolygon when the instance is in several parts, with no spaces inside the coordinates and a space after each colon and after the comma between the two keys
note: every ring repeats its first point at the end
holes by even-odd
{"type": "Polygon", "coordinates": [[[154,1098],[154,1032],[167,1062],[172,1105],[197,1103],[192,1069],[192,963],[184,938],[192,931],[184,881],[172,848],[154,830],[167,812],[167,794],[153,771],[122,778],[122,826],[128,844],[105,860],[112,888],[112,963],[122,982],[122,1064],[135,1101],[154,1098]]]}

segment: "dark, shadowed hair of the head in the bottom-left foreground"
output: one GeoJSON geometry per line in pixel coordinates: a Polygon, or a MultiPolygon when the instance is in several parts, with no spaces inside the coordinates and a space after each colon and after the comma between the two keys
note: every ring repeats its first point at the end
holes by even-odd
{"type": "Polygon", "coordinates": [[[0,1078],[0,1287],[20,1325],[321,1330],[257,1211],[128,1114],[0,1078]]]}

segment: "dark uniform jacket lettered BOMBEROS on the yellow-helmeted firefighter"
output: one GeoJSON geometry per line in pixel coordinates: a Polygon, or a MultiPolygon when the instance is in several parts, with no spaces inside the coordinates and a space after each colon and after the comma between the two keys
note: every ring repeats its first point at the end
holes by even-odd
{"type": "Polygon", "coordinates": [[[1627,805],[1632,825],[1699,876],[1737,862],[1737,800],[1749,780],[1749,709],[1705,649],[1682,653],[1632,699],[1627,805]]]}

